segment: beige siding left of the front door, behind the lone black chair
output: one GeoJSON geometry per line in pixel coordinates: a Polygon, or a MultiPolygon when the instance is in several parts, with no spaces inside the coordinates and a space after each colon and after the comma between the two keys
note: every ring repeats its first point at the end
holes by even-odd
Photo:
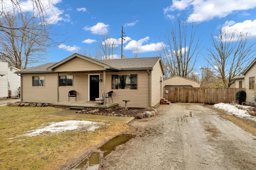
{"type": "Polygon", "coordinates": [[[70,90],[76,91],[76,98],[70,97],[70,101],[88,101],[88,74],[65,74],[60,75],[73,75],[73,86],[59,86],[59,102],[68,102],[68,92],[70,90]]]}

